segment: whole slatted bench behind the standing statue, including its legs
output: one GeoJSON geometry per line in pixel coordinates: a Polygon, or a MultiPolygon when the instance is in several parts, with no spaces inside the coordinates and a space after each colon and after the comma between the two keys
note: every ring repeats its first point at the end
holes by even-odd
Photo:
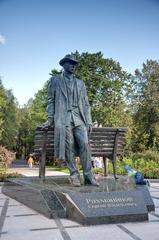
{"type": "MultiPolygon", "coordinates": [[[[126,128],[94,127],[90,136],[90,149],[93,157],[102,157],[104,176],[107,175],[107,159],[113,164],[114,178],[116,176],[116,158],[122,156],[125,145],[126,128]]],[[[39,177],[45,177],[46,159],[54,160],[54,129],[44,131],[37,127],[35,132],[35,157],[39,160],[39,177]]]]}

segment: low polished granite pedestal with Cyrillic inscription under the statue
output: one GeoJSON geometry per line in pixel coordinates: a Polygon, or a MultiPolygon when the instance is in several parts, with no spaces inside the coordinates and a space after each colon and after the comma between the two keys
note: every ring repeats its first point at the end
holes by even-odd
{"type": "Polygon", "coordinates": [[[148,220],[154,203],[147,186],[136,187],[120,177],[101,178],[99,187],[70,186],[68,176],[8,179],[3,193],[48,218],[68,218],[82,224],[148,220]]]}

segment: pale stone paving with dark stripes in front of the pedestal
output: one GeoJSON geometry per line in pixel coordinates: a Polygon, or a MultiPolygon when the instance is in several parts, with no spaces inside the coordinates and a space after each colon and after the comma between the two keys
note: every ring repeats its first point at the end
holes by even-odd
{"type": "MultiPolygon", "coordinates": [[[[29,172],[31,174],[32,170],[29,172]]],[[[159,181],[151,181],[150,192],[156,210],[149,213],[149,221],[97,226],[82,226],[66,219],[48,219],[0,193],[0,238],[2,240],[159,240],[159,181]]]]}

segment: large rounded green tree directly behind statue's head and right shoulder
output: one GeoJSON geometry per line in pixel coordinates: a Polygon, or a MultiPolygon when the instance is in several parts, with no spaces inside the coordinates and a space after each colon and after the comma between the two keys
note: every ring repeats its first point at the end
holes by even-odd
{"type": "Polygon", "coordinates": [[[101,52],[74,53],[80,64],[76,75],[85,81],[93,122],[102,126],[127,126],[130,118],[127,97],[131,91],[131,75],[113,59],[101,52]]]}

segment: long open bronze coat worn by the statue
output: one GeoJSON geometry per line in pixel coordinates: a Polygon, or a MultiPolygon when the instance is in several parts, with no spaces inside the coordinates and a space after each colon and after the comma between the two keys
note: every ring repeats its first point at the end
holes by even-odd
{"type": "MultiPolygon", "coordinates": [[[[74,81],[76,81],[77,86],[79,111],[87,127],[89,124],[92,124],[92,120],[86,87],[82,80],[74,78],[74,81]]],[[[67,90],[62,75],[54,76],[49,81],[47,113],[48,118],[52,119],[54,124],[55,158],[65,160],[67,90]]]]}

